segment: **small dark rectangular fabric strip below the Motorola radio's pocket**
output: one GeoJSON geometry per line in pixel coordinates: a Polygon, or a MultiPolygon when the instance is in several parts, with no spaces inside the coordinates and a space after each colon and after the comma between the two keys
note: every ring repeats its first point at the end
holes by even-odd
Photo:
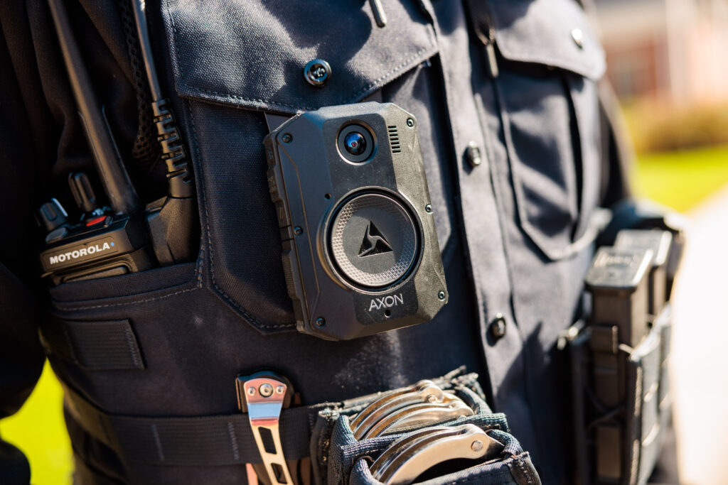
{"type": "Polygon", "coordinates": [[[41,326],[41,340],[50,353],[89,370],[144,369],[128,320],[54,318],[41,326]]]}

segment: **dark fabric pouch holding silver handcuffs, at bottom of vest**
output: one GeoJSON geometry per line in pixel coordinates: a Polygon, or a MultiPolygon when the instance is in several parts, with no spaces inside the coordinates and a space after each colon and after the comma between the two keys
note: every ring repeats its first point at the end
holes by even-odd
{"type": "MultiPolygon", "coordinates": [[[[382,483],[539,485],[541,483],[529,452],[523,451],[521,444],[510,433],[505,414],[492,412],[483,401],[477,374],[462,374],[462,369],[459,369],[428,382],[446,390],[446,393],[451,393],[457,400],[462,400],[464,406],[470,409],[470,413],[437,423],[421,423],[394,432],[389,431],[379,435],[375,433],[376,436],[369,435],[362,438],[357,437],[356,431],[352,429],[355,428],[359,413],[370,409],[372,403],[381,401],[387,396],[399,395],[405,388],[328,404],[317,412],[312,429],[313,482],[328,485],[381,485],[382,483]],[[397,443],[405,442],[408,437],[427,433],[428,428],[434,429],[433,426],[440,430],[447,428],[459,430],[462,436],[467,434],[464,433],[464,428],[474,427],[472,429],[486,433],[487,439],[494,446],[488,456],[480,460],[446,462],[444,455],[448,454],[448,450],[456,448],[451,444],[439,450],[443,456],[430,456],[427,462],[420,464],[420,471],[424,473],[417,478],[390,481],[378,476],[376,469],[379,467],[380,459],[388,452],[392,452],[397,443]],[[437,466],[438,463],[440,466],[437,466]]],[[[414,448],[415,445],[411,446],[403,454],[412,454],[414,448]]],[[[475,446],[473,448],[477,449],[475,446]]],[[[400,455],[401,458],[405,457],[400,455]]]]}

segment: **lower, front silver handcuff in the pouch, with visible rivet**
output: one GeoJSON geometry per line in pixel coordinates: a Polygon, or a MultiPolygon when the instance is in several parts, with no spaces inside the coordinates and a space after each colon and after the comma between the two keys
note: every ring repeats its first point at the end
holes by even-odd
{"type": "Polygon", "coordinates": [[[403,436],[381,454],[371,474],[385,485],[411,484],[424,471],[456,459],[499,454],[503,445],[475,425],[433,426],[403,436]]]}

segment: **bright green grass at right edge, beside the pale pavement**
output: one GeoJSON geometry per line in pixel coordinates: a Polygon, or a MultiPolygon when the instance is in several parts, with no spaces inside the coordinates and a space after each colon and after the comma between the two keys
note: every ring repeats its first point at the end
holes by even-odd
{"type": "Polygon", "coordinates": [[[728,184],[728,146],[642,156],[633,180],[638,195],[686,212],[728,184]]]}

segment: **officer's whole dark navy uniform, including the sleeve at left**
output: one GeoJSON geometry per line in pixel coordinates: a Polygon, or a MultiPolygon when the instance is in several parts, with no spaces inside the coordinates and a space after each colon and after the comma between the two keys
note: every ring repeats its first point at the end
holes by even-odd
{"type": "MultiPolygon", "coordinates": [[[[127,169],[152,201],[165,183],[154,154],[134,149],[143,103],[128,7],[67,3],[127,169]]],[[[50,356],[66,388],[110,414],[232,414],[234,378],[257,369],[281,372],[315,404],[464,365],[542,480],[569,481],[569,372],[557,342],[581,314],[590,219],[625,192],[598,100],[604,53],[574,0],[472,1],[470,11],[461,1],[382,3],[384,28],[362,1],[147,2],[162,89],[194,164],[199,257],[49,291],[33,211],[51,196],[73,207],[68,172],[95,175],[47,5],[2,2],[0,417],[39,375],[38,325],[127,321],[142,368],[50,356]],[[331,65],[323,87],[303,76],[315,58],[331,65]],[[372,95],[418,120],[449,302],[426,324],[326,342],[296,332],[263,112],[372,95]]],[[[82,483],[245,481],[240,465],[130,462],[73,417],[68,427],[82,483]]]]}

